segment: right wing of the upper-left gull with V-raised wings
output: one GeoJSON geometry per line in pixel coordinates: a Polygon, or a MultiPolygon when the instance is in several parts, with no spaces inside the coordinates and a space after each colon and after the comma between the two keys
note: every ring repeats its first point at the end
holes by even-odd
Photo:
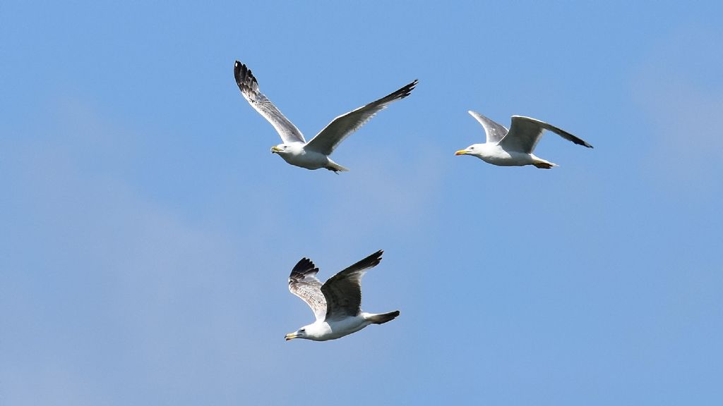
{"type": "Polygon", "coordinates": [[[337,145],[348,137],[349,134],[363,126],[367,121],[374,117],[376,113],[384,110],[389,103],[406,98],[411,91],[414,90],[416,82],[417,81],[415,79],[414,82],[411,82],[396,92],[390,93],[389,95],[369,103],[364,107],[357,108],[356,110],[334,118],[319,132],[319,134],[316,134],[316,137],[309,141],[304,149],[321,152],[324,155],[330,155],[334,152],[337,145]]]}

